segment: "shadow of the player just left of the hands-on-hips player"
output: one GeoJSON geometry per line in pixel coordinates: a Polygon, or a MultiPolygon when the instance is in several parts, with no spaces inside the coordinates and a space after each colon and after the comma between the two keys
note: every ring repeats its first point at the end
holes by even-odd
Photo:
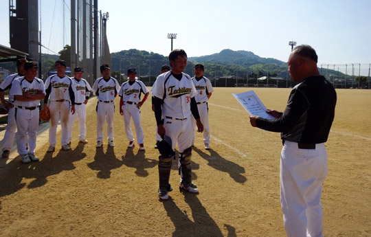
{"type": "Polygon", "coordinates": [[[123,164],[123,161],[116,158],[113,147],[108,146],[106,153],[104,153],[102,147],[97,148],[94,161],[88,163],[88,166],[91,170],[98,170],[98,178],[109,179],[111,177],[111,170],[120,168],[123,164]]]}

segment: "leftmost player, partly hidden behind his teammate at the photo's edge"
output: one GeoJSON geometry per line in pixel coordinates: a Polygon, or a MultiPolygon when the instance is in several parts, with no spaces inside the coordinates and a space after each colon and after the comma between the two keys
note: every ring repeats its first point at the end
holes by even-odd
{"type": "Polygon", "coordinates": [[[10,153],[10,149],[12,148],[14,144],[14,137],[16,133],[16,120],[14,120],[15,116],[15,109],[14,109],[14,96],[9,93],[8,99],[9,102],[5,101],[4,98],[4,91],[10,90],[12,88],[12,82],[16,78],[20,78],[25,75],[25,63],[27,63],[27,60],[25,58],[21,58],[16,61],[16,70],[18,71],[16,74],[12,74],[10,76],[7,76],[3,82],[0,84],[0,99],[1,103],[8,108],[8,125],[6,126],[5,135],[3,138],[3,154],[1,157],[8,157],[10,153]]]}

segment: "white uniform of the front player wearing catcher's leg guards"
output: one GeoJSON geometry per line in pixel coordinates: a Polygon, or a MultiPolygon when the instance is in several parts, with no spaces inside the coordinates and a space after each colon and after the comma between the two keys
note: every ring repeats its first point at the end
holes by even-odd
{"type": "Polygon", "coordinates": [[[192,146],[193,130],[190,117],[190,100],[197,94],[188,74],[181,80],[172,76],[171,71],[161,74],[153,84],[153,96],[164,99],[162,117],[166,135],[171,138],[172,149],[178,144],[179,153],[192,146]]]}

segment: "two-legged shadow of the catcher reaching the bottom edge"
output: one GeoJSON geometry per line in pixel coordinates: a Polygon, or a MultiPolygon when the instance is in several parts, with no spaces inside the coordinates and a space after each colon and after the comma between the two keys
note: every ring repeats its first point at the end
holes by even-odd
{"type": "Polygon", "coordinates": [[[171,198],[162,202],[175,226],[175,232],[172,233],[172,236],[223,236],[218,225],[207,213],[196,195],[186,193],[184,199],[190,205],[192,213],[180,210],[171,198]],[[190,215],[192,215],[193,221],[191,221],[190,215]]]}

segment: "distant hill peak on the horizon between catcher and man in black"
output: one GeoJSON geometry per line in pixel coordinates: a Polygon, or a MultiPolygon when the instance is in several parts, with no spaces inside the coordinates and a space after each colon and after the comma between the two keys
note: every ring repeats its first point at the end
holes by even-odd
{"type": "Polygon", "coordinates": [[[276,64],[284,67],[286,63],[275,58],[260,58],[253,52],[231,49],[223,49],[217,54],[211,54],[200,57],[190,57],[188,60],[193,60],[198,63],[216,63],[220,65],[240,65],[242,67],[250,67],[256,64],[276,64]]]}

